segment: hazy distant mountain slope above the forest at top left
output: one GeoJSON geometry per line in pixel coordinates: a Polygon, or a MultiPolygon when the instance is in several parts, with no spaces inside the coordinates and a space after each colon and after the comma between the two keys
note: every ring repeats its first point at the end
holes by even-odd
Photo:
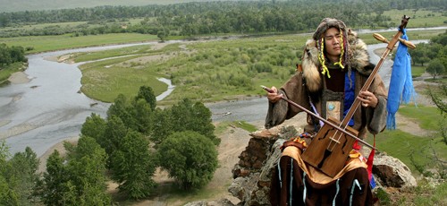
{"type": "MultiPolygon", "coordinates": [[[[100,5],[148,5],[211,2],[218,0],[0,0],[0,13],[95,7],[100,5]]],[[[227,0],[228,1],[228,0],[227,0]]]]}

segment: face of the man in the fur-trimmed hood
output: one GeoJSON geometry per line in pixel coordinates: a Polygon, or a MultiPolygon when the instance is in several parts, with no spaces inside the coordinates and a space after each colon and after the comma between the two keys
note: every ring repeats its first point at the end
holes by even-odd
{"type": "Polygon", "coordinates": [[[342,54],[341,41],[342,34],[337,28],[330,28],[325,31],[325,50],[326,55],[333,62],[338,62],[342,54]]]}

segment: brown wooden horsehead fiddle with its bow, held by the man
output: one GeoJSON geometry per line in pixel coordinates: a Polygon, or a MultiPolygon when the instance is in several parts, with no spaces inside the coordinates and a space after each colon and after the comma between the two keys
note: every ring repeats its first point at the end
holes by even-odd
{"type": "MultiPolygon", "coordinates": [[[[365,82],[365,84],[361,88],[361,91],[366,91],[368,90],[369,86],[371,86],[375,75],[378,73],[378,70],[384,63],[384,59],[386,58],[386,56],[388,56],[390,51],[392,51],[397,41],[400,40],[402,31],[407,26],[408,21],[409,17],[404,15],[402,17],[401,26],[399,26],[398,32],[389,42],[386,42],[386,39],[381,37],[381,35],[374,35],[375,39],[386,42],[388,43],[388,45],[379,62],[375,65],[374,70],[367,78],[367,82],[365,82]]],[[[412,45],[409,41],[401,40],[401,42],[408,47],[414,48],[412,47],[414,45],[412,45]]],[[[268,92],[273,92],[273,90],[270,90],[265,86],[261,87],[268,92]]],[[[286,99],[283,97],[283,100],[325,123],[323,127],[318,131],[318,133],[316,133],[316,136],[313,138],[312,142],[309,143],[308,148],[304,150],[301,155],[301,159],[303,159],[310,166],[316,167],[325,175],[333,177],[342,170],[346,160],[348,159],[350,150],[352,149],[352,146],[356,140],[358,142],[362,142],[367,147],[373,150],[377,150],[374,146],[358,138],[358,131],[348,125],[350,119],[352,118],[352,116],[354,116],[355,111],[361,103],[358,98],[354,100],[348,114],[343,118],[342,122],[333,117],[328,117],[326,120],[323,117],[309,111],[307,108],[296,104],[290,99],[286,99]]]]}

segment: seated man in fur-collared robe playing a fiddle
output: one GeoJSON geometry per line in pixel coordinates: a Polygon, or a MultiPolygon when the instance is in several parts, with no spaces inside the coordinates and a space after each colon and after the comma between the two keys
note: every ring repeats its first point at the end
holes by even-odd
{"type": "MultiPolygon", "coordinates": [[[[357,130],[362,139],[367,131],[382,132],[386,124],[387,101],[384,82],[377,75],[369,89],[360,92],[374,67],[369,63],[366,44],[357,38],[357,34],[347,29],[344,22],[325,18],[313,39],[308,40],[297,73],[280,90],[272,87],[273,92],[267,94],[266,128],[282,124],[302,111],[281,100],[283,97],[325,119],[332,116],[340,121],[357,98],[361,107],[350,119],[350,127],[357,130]]],[[[321,126],[317,118],[308,115],[308,125],[304,127],[306,135],[284,143],[283,157],[272,179],[271,203],[371,205],[367,164],[358,151],[357,142],[346,166],[334,177],[326,176],[301,159],[302,150],[308,143],[308,138],[303,136],[311,139],[321,126]]]]}

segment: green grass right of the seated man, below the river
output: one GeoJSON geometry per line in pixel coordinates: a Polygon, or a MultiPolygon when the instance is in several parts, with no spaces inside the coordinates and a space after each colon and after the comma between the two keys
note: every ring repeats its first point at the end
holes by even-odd
{"type": "MultiPolygon", "coordinates": [[[[376,136],[376,147],[400,159],[414,176],[433,176],[430,169],[436,169],[441,175],[445,173],[447,159],[447,144],[439,131],[442,116],[435,107],[401,106],[398,111],[402,116],[415,121],[422,129],[432,131],[432,134],[419,136],[401,131],[398,123],[397,130],[385,130],[376,136]]],[[[370,143],[372,138],[368,138],[370,143]]],[[[447,183],[433,185],[425,178],[417,178],[415,188],[402,188],[399,193],[386,193],[377,190],[379,205],[447,205],[447,183]]]]}

